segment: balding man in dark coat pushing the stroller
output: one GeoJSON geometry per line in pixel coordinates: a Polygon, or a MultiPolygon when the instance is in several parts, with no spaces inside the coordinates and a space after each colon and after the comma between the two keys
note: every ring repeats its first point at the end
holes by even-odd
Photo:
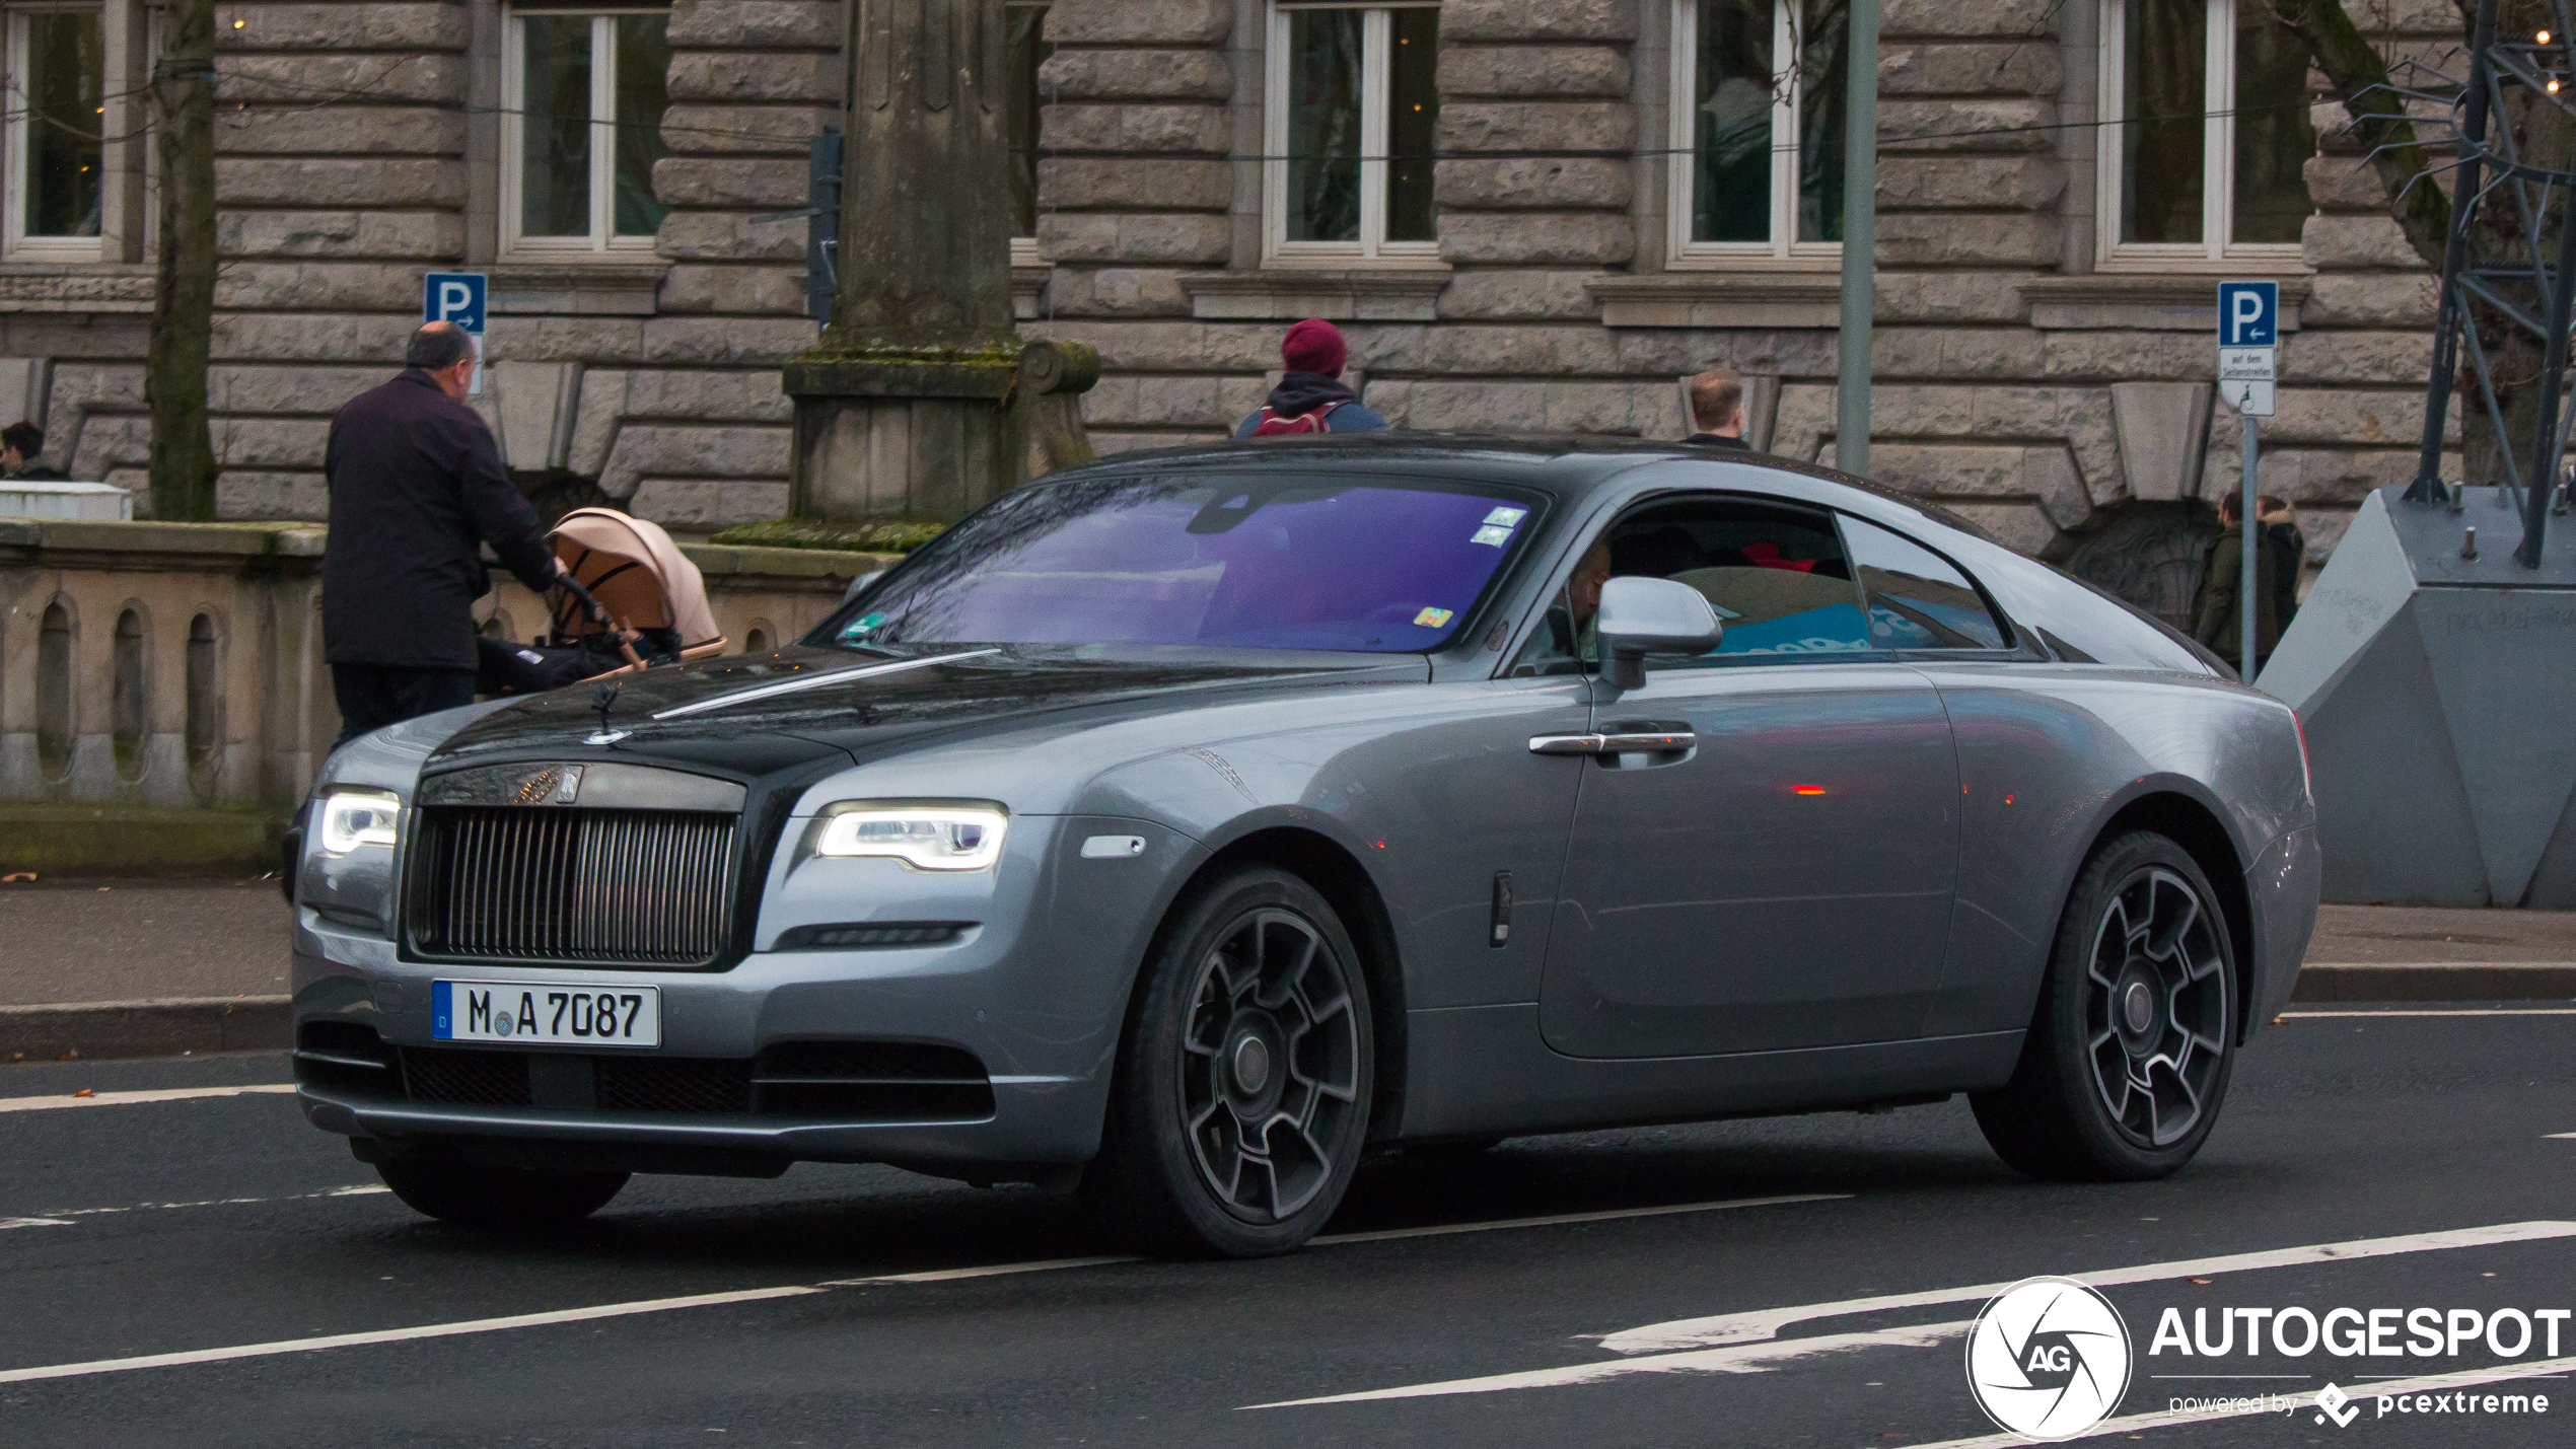
{"type": "Polygon", "coordinates": [[[531,589],[559,574],[492,430],[464,404],[474,340],[430,322],[402,360],[394,381],[340,407],[322,453],[322,646],[340,744],[474,703],[474,600],[492,584],[482,543],[531,589]]]}

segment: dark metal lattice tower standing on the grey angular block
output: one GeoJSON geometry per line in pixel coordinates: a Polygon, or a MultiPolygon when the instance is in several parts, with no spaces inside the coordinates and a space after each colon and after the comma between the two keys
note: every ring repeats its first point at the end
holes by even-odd
{"type": "Polygon", "coordinates": [[[2419,116],[2416,124],[2450,129],[2458,152],[2447,167],[2452,211],[2432,378],[2424,389],[2424,443],[2406,502],[2447,502],[2442,432],[2465,347],[2481,401],[2470,412],[2496,430],[2496,456],[2504,463],[2496,484],[2522,512],[2522,546],[2514,561],[2537,569],[2558,461],[2566,456],[2568,422],[2576,420],[2576,409],[2566,404],[2576,226],[2563,224],[2568,196],[2576,193],[2576,170],[2537,165],[2524,154],[2527,139],[2496,118],[2519,93],[2540,106],[2555,106],[2576,126],[2576,13],[2568,0],[2545,0],[2543,28],[2499,33],[2496,10],[2499,0],[2478,0],[2465,77],[2427,62],[2403,62],[2391,80],[2391,93],[2406,100],[2419,116]],[[2540,417],[2527,458],[2514,456],[2514,438],[2496,399],[2491,353],[2512,332],[2537,337],[2545,358],[2537,378],[2540,417]]]}

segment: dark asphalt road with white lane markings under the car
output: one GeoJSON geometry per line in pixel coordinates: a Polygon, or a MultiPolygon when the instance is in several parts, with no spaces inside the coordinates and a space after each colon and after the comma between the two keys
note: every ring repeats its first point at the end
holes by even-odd
{"type": "Polygon", "coordinates": [[[28,1104],[276,1084],[276,1058],[0,1068],[0,1444],[1935,1444],[1996,1434],[1955,1325],[2030,1274],[2107,1284],[2123,1418],[2295,1403],[2112,1421],[2123,1444],[2568,1444],[2566,1364],[2432,1385],[2432,1418],[2375,1408],[2388,1380],[2530,1374],[2537,1333],[2514,1359],[2406,1356],[2403,1331],[2393,1356],[2148,1351],[2166,1307],[2576,1307],[2576,1011],[2463,1011],[2264,1032],[2208,1150],[2161,1184],[2022,1181],[1953,1102],[1396,1158],[1332,1225],[1355,1241],[999,1274],[948,1269],[1092,1251],[1064,1202],[891,1168],[639,1179],[577,1233],[495,1241],[412,1217],[281,1094],[28,1104]],[[2354,1241],[2375,1246],[2213,1261],[2354,1241]],[[744,1292],[768,1295],[659,1302],[744,1292]],[[1917,1302],[1852,1305],[1878,1295],[1917,1302]],[[1803,1313],[1677,1323],[1754,1310],[1803,1313]],[[340,1333],[386,1338],[294,1343],[340,1333]],[[116,1364],[157,1354],[188,1361],[116,1364]],[[2357,1395],[2349,1426],[2313,1408],[2329,1380],[2357,1395]],[[1417,1392],[1255,1408],[1378,1390],[1417,1392]],[[2550,1408],[2483,1413],[2483,1392],[2550,1408]]]}

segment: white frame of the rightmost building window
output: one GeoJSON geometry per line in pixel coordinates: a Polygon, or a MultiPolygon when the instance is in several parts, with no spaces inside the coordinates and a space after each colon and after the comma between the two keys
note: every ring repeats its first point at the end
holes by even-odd
{"type": "Polygon", "coordinates": [[[2264,270],[2306,270],[2298,242],[2231,242],[2236,232],[2236,5],[2246,0],[2208,0],[2200,90],[2200,242],[2123,242],[2128,216],[2120,214],[2123,167],[2128,162],[2128,0],[2102,0],[2102,126],[2097,126],[2099,165],[2094,226],[2097,263],[2105,270],[2221,270],[2259,265],[2264,270]]]}

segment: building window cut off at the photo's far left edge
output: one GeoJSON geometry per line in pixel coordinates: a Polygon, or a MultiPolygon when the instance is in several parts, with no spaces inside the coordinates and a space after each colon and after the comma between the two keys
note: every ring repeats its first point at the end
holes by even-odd
{"type": "Polygon", "coordinates": [[[8,255],[98,260],[108,44],[98,5],[8,13],[8,255]]]}

